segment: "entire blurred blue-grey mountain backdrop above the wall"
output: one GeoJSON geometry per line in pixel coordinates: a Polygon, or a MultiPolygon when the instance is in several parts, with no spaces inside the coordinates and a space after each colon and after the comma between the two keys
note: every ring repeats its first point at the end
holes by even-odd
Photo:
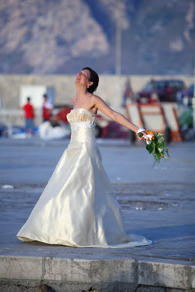
{"type": "Polygon", "coordinates": [[[195,0],[1,0],[0,73],[192,74],[195,0]]]}

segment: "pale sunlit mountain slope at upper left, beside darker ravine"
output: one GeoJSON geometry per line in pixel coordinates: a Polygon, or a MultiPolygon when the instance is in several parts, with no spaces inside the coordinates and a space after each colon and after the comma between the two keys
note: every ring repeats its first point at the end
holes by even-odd
{"type": "Polygon", "coordinates": [[[108,53],[105,33],[82,0],[2,2],[1,72],[57,72],[78,56],[108,53]]]}

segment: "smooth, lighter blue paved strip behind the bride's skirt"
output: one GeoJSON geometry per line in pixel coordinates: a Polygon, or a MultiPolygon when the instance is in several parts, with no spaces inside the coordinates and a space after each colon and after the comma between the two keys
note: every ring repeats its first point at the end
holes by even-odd
{"type": "MultiPolygon", "coordinates": [[[[69,140],[43,142],[39,139],[0,140],[0,182],[14,184],[46,183],[69,140]]],[[[171,158],[152,167],[153,157],[142,141],[98,139],[102,162],[112,182],[189,183],[195,170],[195,142],[173,143],[171,158]]]]}

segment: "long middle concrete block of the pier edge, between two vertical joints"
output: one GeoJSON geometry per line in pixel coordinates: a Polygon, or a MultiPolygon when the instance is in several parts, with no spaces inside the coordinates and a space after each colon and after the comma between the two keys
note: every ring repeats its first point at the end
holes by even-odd
{"type": "Polygon", "coordinates": [[[88,260],[48,257],[44,259],[43,279],[85,283],[134,283],[137,279],[136,269],[134,259],[88,260]]]}

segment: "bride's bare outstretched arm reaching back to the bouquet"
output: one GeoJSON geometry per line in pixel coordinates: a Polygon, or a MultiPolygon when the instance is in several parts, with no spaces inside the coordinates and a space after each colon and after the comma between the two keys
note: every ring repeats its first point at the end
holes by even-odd
{"type": "MultiPolygon", "coordinates": [[[[99,97],[98,95],[94,95],[94,104],[95,107],[100,110],[102,113],[110,117],[113,121],[117,122],[118,124],[134,131],[137,133],[139,127],[131,123],[125,116],[123,116],[121,113],[111,109],[104,101],[99,97]]],[[[147,135],[147,131],[143,131],[145,135],[147,135]]],[[[143,140],[143,139],[141,139],[143,140]]]]}

